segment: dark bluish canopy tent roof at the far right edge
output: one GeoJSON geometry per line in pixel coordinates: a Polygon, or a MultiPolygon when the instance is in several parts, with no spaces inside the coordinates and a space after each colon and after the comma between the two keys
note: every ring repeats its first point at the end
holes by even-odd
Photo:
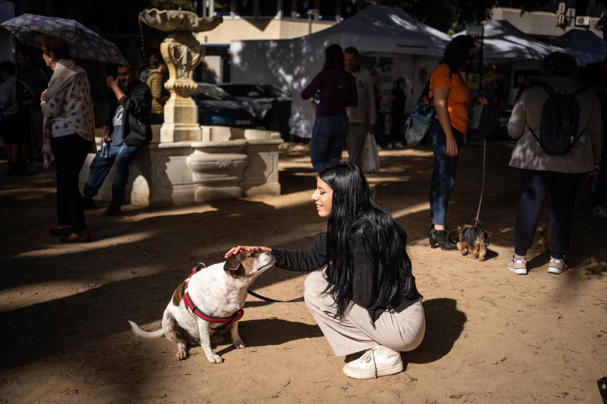
{"type": "Polygon", "coordinates": [[[580,66],[602,62],[607,56],[607,41],[585,29],[572,29],[552,39],[549,44],[565,48],[568,53],[575,56],[580,66]]]}

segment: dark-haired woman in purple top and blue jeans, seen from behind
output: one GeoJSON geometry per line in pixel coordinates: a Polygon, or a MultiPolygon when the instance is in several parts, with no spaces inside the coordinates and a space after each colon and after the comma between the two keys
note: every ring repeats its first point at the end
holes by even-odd
{"type": "Polygon", "coordinates": [[[358,106],[356,80],[343,65],[341,46],[330,45],[325,49],[322,71],[302,91],[303,99],[311,98],[316,92],[320,94],[310,142],[310,158],[316,172],[333,161],[341,160],[345,139],[350,132],[345,107],[358,106]]]}

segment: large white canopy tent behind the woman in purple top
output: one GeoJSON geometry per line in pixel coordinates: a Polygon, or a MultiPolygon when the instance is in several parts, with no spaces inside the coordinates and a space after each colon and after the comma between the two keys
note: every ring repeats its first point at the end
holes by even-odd
{"type": "Polygon", "coordinates": [[[407,80],[405,110],[410,110],[450,40],[446,33],[422,24],[401,8],[380,5],[370,5],[333,27],[293,39],[291,133],[304,138],[312,135],[310,101],[302,100],[300,92],[322,69],[328,45],[354,46],[361,56],[390,59],[390,68],[380,75],[390,82],[398,77],[407,80]]]}

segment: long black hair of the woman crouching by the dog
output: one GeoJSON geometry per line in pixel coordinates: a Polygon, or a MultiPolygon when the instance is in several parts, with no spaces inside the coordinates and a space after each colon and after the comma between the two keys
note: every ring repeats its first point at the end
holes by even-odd
{"type": "Polygon", "coordinates": [[[407,255],[407,232],[375,203],[375,194],[356,164],[337,162],[320,170],[318,177],[333,189],[327,224],[327,280],[325,294],[343,317],[352,302],[356,243],[367,244],[371,270],[378,281],[376,306],[385,307],[398,295],[409,295],[414,281],[407,255]],[[379,263],[382,264],[378,279],[379,263]]]}

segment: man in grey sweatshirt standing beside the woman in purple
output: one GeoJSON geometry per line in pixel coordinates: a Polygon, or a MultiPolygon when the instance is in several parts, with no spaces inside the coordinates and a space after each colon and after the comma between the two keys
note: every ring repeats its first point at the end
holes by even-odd
{"type": "Polygon", "coordinates": [[[358,106],[346,108],[348,121],[350,121],[350,133],[346,140],[346,147],[350,161],[362,168],[365,137],[367,133],[373,135],[375,132],[376,111],[373,79],[371,72],[358,64],[358,50],[353,46],[344,50],[344,66],[356,79],[356,90],[358,91],[358,106]]]}

